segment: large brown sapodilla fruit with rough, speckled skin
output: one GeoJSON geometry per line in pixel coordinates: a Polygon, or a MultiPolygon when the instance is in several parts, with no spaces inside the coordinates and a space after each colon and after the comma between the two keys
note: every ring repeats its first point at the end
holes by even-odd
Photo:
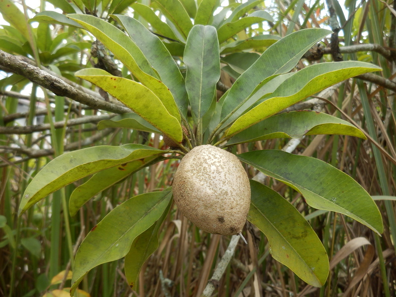
{"type": "Polygon", "coordinates": [[[179,164],[173,197],[198,228],[235,235],[242,231],[249,211],[249,179],[234,154],[211,145],[198,146],[179,164]]]}

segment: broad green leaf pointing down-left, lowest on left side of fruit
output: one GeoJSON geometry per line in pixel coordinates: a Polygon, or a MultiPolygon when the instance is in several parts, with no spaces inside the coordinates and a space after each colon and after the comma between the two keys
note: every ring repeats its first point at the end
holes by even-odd
{"type": "Polygon", "coordinates": [[[130,198],[92,228],[76,254],[70,295],[74,296],[79,283],[92,268],[124,257],[135,238],[162,216],[171,198],[172,191],[130,198]]]}

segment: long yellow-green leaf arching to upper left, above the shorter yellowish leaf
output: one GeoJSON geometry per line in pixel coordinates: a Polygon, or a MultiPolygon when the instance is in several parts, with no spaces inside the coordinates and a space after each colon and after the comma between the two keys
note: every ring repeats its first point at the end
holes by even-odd
{"type": "MultiPolygon", "coordinates": [[[[158,98],[164,101],[174,101],[172,93],[163,82],[158,80],[157,74],[151,68],[143,52],[124,32],[92,15],[71,14],[68,17],[78,22],[98,38],[158,98]]],[[[169,112],[172,112],[172,110],[169,112]]]]}

